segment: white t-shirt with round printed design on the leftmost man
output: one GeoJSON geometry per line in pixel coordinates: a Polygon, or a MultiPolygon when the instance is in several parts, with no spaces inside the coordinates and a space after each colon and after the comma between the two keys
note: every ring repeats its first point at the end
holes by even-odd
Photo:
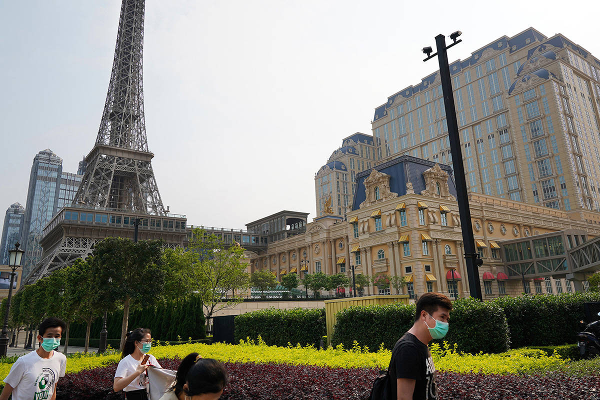
{"type": "Polygon", "coordinates": [[[36,351],[21,356],[11,366],[4,382],[13,387],[13,400],[52,398],[56,381],[65,376],[67,357],[58,351],[43,359],[36,351]]]}

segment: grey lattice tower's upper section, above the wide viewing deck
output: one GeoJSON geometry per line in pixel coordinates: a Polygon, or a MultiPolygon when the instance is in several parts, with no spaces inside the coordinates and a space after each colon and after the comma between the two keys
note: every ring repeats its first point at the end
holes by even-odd
{"type": "Polygon", "coordinates": [[[165,215],[144,118],[145,0],[123,0],[100,130],[74,204],[165,215]]]}

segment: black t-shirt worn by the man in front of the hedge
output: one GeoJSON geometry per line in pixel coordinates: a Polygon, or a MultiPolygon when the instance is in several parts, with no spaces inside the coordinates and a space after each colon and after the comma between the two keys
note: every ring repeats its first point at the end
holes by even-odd
{"type": "Polygon", "coordinates": [[[389,363],[389,400],[397,400],[398,378],[415,380],[413,400],[436,400],[437,388],[433,359],[429,348],[412,333],[396,342],[389,363]],[[395,353],[395,354],[394,354],[395,353]]]}

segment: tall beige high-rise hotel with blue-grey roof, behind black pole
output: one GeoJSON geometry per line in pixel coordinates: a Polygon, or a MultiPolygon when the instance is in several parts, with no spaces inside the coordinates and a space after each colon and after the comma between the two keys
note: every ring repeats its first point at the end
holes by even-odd
{"type": "MultiPolygon", "coordinates": [[[[461,44],[464,46],[464,44],[461,44]]],[[[600,61],[533,28],[451,62],[470,193],[600,223],[600,61]]],[[[375,110],[377,156],[452,164],[439,71],[375,110]]]]}

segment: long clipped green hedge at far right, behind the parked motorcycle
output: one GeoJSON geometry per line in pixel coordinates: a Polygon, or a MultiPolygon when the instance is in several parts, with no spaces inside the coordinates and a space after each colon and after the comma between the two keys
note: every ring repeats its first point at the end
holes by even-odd
{"type": "Polygon", "coordinates": [[[502,307],[513,348],[563,345],[577,341],[584,319],[583,303],[600,301],[600,293],[537,294],[490,300],[502,307]]]}

